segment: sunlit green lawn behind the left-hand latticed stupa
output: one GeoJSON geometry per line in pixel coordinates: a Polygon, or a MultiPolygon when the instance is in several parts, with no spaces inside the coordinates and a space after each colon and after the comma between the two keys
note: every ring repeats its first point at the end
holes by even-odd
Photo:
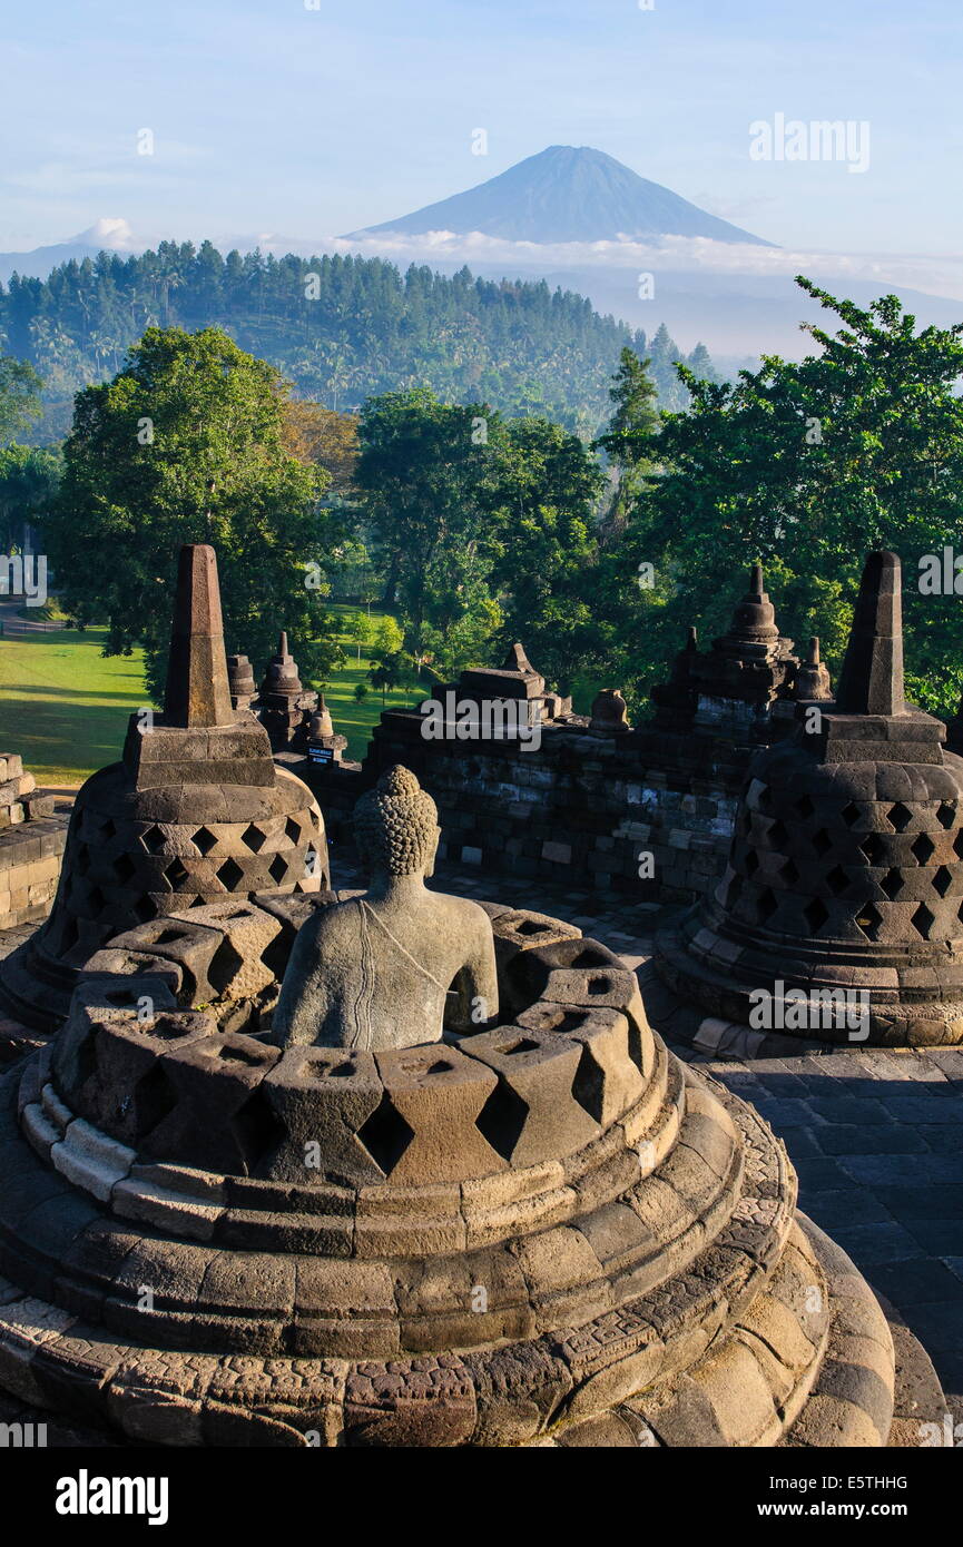
{"type": "MultiPolygon", "coordinates": [[[[355,611],[333,606],[341,617],[355,611]]],[[[375,625],[382,617],[372,608],[375,625]]],[[[150,702],[144,688],[141,653],[102,656],[105,630],[57,630],[0,640],[0,755],[19,752],[39,784],[77,784],[121,755],[127,718],[150,702]]],[[[297,642],[293,640],[297,654],[297,642]]],[[[372,726],[378,724],[381,693],[367,684],[368,661],[348,662],[327,692],[334,729],[348,738],[347,756],[361,760],[372,726]],[[358,682],[368,685],[365,702],[355,702],[358,682]]],[[[255,676],[265,662],[255,662],[255,676]]],[[[396,688],[386,705],[413,704],[426,690],[396,688]]]]}

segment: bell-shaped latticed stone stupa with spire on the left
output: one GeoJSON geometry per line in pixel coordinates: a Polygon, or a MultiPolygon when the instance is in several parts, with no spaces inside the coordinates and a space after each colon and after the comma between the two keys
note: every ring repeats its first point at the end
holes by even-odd
{"type": "Polygon", "coordinates": [[[181,549],[164,712],[132,715],[124,756],[81,789],[43,927],[0,964],[3,1009],[43,1033],[79,968],[132,924],[255,891],[317,891],[320,809],[277,769],[263,726],[234,709],[214,549],[181,549]]]}

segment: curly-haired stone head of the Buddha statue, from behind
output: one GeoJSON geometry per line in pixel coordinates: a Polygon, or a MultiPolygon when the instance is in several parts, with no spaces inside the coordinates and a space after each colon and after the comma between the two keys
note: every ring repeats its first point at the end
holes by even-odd
{"type": "Polygon", "coordinates": [[[435,801],[399,763],[355,806],[355,842],[372,877],[430,876],[440,837],[435,801]]]}

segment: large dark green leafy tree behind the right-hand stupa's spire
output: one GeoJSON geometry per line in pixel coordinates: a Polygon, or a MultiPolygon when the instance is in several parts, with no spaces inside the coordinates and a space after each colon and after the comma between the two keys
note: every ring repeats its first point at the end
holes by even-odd
{"type": "Polygon", "coordinates": [[[819,634],[838,668],[864,555],[893,548],[909,687],[949,710],[963,688],[960,597],[927,596],[918,580],[924,555],[963,531],[963,325],[917,331],[895,295],[862,309],[797,283],[836,320],[836,331],[805,325],[819,353],[769,356],[721,385],[681,368],[691,405],[666,416],[663,475],[608,575],[625,674],[663,674],[686,623],[720,633],[752,560],[783,631],[819,634]],[[652,589],[636,585],[639,563],[655,568],[652,589]]]}

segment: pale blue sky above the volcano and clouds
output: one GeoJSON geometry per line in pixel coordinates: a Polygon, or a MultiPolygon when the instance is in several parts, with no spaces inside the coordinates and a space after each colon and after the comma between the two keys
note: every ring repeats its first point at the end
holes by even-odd
{"type": "Polygon", "coordinates": [[[958,0],[5,9],[0,249],[102,217],[144,240],[320,238],[585,144],[782,246],[963,252],[958,0]],[[752,162],[748,125],[777,111],[867,119],[870,169],[752,162]]]}

